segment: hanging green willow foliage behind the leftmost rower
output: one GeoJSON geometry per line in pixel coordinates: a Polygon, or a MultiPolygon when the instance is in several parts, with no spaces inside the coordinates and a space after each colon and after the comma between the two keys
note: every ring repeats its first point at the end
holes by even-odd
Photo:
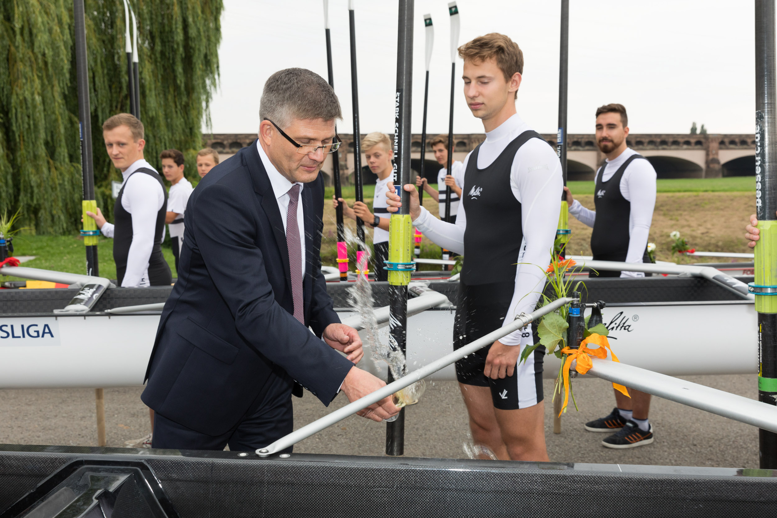
{"type": "MultiPolygon", "coordinates": [[[[145,157],[177,148],[186,176],[209,122],[218,80],[222,0],[134,0],[145,157]]],[[[21,210],[38,233],[79,228],[82,180],[71,0],[0,2],[0,212],[21,210]]],[[[111,180],[102,124],[129,111],[124,3],[86,0],[92,148],[98,206],[109,219],[111,180]]]]}

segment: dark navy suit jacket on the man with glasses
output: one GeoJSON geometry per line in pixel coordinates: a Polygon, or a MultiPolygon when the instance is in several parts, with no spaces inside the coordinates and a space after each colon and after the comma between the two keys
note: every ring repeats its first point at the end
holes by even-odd
{"type": "Polygon", "coordinates": [[[302,189],[313,335],[293,316],[284,224],[256,141],[200,181],[148,362],[146,405],[214,436],[237,425],[273,377],[289,376],[329,405],[354,364],[319,338],[340,322],[321,273],[323,192],[320,174],[302,189]]]}

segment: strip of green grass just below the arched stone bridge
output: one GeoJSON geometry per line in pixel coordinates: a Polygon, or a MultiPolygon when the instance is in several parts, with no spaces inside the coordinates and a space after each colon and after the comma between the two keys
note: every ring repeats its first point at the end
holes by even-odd
{"type": "MultiPolygon", "coordinates": [[[[593,182],[569,182],[567,185],[573,194],[593,194],[593,182]]],[[[433,189],[437,189],[436,183],[431,183],[433,189]]],[[[657,182],[659,193],[741,193],[755,190],[754,176],[731,176],[729,178],[677,178],[660,179],[657,182]]],[[[335,193],[334,187],[327,187],[324,191],[326,199],[330,200],[335,193]]],[[[353,200],[356,196],[354,186],[343,186],[343,198],[353,200]]],[[[375,186],[364,186],[364,200],[372,200],[375,195],[375,186]]]]}

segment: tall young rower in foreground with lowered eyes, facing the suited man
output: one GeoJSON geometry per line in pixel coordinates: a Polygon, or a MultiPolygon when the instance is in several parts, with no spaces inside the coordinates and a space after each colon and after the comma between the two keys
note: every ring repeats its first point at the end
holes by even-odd
{"type": "MultiPolygon", "coordinates": [[[[437,245],[465,256],[454,325],[454,348],[479,339],[535,308],[556,237],[563,186],[556,151],[519,117],[523,53],[503,34],[477,37],[458,48],[464,95],[483,120],[486,141],[464,162],[456,223],[440,221],[410,194],[413,224],[437,245]]],[[[389,186],[389,211],[401,205],[389,186]]],[[[548,461],[545,448],[540,346],[519,329],[456,363],[476,443],[500,459],[548,461]]]]}

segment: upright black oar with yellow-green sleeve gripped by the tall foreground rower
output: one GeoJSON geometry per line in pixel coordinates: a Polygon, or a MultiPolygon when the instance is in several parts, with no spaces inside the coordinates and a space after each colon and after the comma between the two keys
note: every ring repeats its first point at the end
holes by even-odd
{"type": "MultiPolygon", "coordinates": [[[[410,218],[410,195],[402,186],[410,181],[410,106],[413,100],[413,0],[399,0],[397,35],[394,185],[399,187],[402,207],[391,216],[389,224],[389,264],[408,264],[412,259],[413,224],[410,218]]],[[[406,353],[407,285],[410,272],[389,271],[389,330],[392,339],[406,353]]],[[[389,383],[393,380],[389,370],[389,383]]],[[[405,452],[405,410],[394,422],[386,423],[386,454],[405,452]]]]}

